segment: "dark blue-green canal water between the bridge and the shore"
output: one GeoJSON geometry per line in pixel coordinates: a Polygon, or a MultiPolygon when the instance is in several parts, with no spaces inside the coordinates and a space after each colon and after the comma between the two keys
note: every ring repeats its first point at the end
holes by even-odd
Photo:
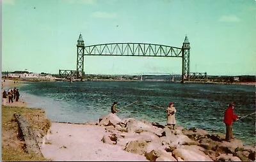
{"type": "MultiPolygon", "coordinates": [[[[44,108],[56,122],[97,121],[110,112],[114,101],[123,108],[116,115],[166,124],[164,108],[173,102],[177,124],[225,133],[223,114],[235,103],[235,114],[255,112],[255,85],[196,84],[157,81],[31,82],[20,87],[29,107],[44,108]],[[148,105],[149,104],[149,105],[148,105]],[[157,108],[150,105],[157,105],[157,108]]],[[[255,145],[255,114],[233,124],[234,136],[255,145]]]]}

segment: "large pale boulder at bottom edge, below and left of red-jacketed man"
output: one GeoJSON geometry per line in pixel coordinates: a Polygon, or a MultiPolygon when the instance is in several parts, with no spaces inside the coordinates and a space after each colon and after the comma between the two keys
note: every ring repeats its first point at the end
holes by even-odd
{"type": "Polygon", "coordinates": [[[184,161],[212,161],[204,152],[200,151],[196,145],[182,145],[177,147],[172,154],[175,158],[181,158],[184,161]]]}

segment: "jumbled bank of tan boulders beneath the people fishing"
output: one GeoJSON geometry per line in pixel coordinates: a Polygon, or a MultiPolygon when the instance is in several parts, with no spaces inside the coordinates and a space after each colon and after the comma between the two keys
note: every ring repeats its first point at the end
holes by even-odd
{"type": "Polygon", "coordinates": [[[225,136],[211,135],[204,129],[171,129],[134,118],[120,119],[115,114],[86,124],[109,132],[102,136],[104,144],[119,145],[149,161],[255,161],[255,147],[243,145],[237,138],[226,142],[225,136]]]}

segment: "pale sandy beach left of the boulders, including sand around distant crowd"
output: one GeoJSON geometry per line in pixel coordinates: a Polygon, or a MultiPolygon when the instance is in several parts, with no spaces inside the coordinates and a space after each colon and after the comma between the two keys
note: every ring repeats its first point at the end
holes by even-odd
{"type": "MultiPolygon", "coordinates": [[[[3,88],[19,87],[5,80],[3,88]]],[[[3,92],[3,89],[2,89],[3,92]]],[[[6,103],[6,106],[26,107],[26,102],[6,103]]],[[[123,151],[118,145],[104,144],[101,139],[110,133],[100,126],[52,122],[49,134],[39,147],[44,158],[52,161],[148,161],[145,156],[123,151]]]]}

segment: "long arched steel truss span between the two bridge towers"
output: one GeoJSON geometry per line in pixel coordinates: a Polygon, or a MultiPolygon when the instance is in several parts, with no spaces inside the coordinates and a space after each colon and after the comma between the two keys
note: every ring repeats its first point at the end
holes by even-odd
{"type": "Polygon", "coordinates": [[[84,55],[182,57],[182,48],[150,43],[108,43],[86,46],[84,55]]]}

